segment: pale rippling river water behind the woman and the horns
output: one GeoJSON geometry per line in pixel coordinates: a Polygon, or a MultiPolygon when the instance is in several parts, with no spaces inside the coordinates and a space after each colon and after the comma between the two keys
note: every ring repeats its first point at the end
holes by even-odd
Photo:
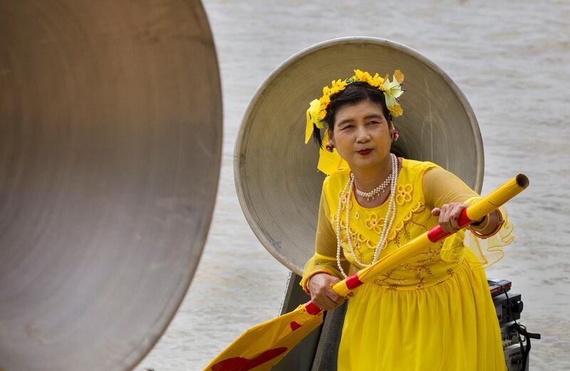
{"type": "Polygon", "coordinates": [[[136,370],[202,370],[242,331],[274,318],[288,270],[249,229],[233,150],[254,91],[289,56],[330,38],[374,36],[423,53],[470,100],[485,149],[483,193],[512,174],[517,239],[487,276],[522,293],[531,370],[570,370],[570,1],[203,1],[224,92],[224,147],[209,238],[190,291],[136,370]]]}

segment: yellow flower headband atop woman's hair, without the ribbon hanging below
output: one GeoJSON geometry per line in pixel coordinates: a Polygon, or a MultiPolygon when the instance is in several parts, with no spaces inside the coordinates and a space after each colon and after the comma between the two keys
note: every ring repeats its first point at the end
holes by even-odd
{"type": "Polygon", "coordinates": [[[398,117],[402,115],[402,108],[398,103],[398,98],[405,91],[405,89],[402,88],[403,80],[404,74],[401,73],[400,70],[395,70],[392,82],[390,82],[388,75],[386,75],[385,78],[381,78],[380,75],[376,73],[374,77],[372,77],[370,73],[361,70],[354,70],[354,75],[351,78],[333,80],[330,87],[325,86],[323,88],[323,96],[313,100],[309,104],[309,108],[306,112],[305,143],[309,142],[314,127],[318,127],[318,129],[324,127],[322,120],[326,116],[326,108],[331,103],[331,95],[343,91],[347,85],[355,83],[356,81],[362,81],[374,88],[378,88],[378,90],[384,93],[386,106],[388,106],[388,110],[390,110],[392,116],[398,117]]]}

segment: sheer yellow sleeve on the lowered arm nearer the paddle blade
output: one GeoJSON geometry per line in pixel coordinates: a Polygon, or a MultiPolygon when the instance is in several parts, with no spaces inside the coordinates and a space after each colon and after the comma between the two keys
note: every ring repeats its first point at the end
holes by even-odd
{"type": "MultiPolygon", "coordinates": [[[[336,233],[331,222],[331,212],[328,209],[328,202],[324,192],[321,193],[321,202],[318,206],[318,222],[315,237],[315,254],[307,261],[303,270],[301,286],[306,293],[309,293],[307,281],[317,273],[328,273],[331,276],[343,278],[336,263],[336,233]]],[[[341,265],[345,272],[348,272],[350,263],[346,261],[341,250],[341,265]]]]}

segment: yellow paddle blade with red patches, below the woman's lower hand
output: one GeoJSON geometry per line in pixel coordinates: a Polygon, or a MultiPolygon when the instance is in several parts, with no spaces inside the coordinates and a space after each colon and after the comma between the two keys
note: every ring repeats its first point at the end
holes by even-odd
{"type": "Polygon", "coordinates": [[[247,330],[204,371],[269,371],[322,322],[323,312],[311,315],[305,305],[299,305],[292,312],[247,330]]]}

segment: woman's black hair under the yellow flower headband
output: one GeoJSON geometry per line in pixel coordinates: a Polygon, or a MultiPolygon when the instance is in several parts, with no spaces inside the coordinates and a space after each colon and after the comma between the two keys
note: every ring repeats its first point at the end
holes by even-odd
{"type": "MultiPolygon", "coordinates": [[[[390,115],[390,110],[388,110],[388,107],[386,106],[384,93],[368,83],[355,81],[354,83],[347,85],[344,90],[331,95],[331,103],[328,103],[326,116],[323,119],[323,122],[326,122],[328,127],[328,132],[330,133],[333,131],[334,118],[338,108],[341,108],[343,105],[359,103],[363,100],[370,100],[373,103],[378,103],[382,108],[382,113],[386,120],[388,122],[392,121],[392,115],[390,115]]],[[[318,147],[323,147],[321,132],[316,127],[313,130],[313,139],[318,147]]]]}

